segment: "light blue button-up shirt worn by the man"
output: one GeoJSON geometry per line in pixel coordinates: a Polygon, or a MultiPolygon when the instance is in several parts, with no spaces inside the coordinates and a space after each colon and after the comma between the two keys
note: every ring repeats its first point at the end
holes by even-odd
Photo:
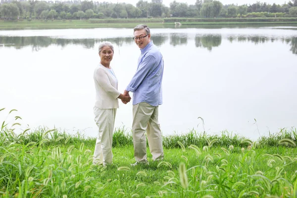
{"type": "Polygon", "coordinates": [[[141,49],[137,71],[126,90],[133,92],[133,104],[147,102],[152,106],[162,104],[162,79],[164,61],[152,41],[141,49]]]}

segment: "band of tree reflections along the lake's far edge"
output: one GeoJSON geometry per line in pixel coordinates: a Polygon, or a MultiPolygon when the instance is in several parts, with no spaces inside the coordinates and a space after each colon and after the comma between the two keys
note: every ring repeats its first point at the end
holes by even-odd
{"type": "MultiPolygon", "coordinates": [[[[152,40],[154,44],[158,47],[164,45],[169,39],[169,44],[173,47],[188,45],[191,39],[187,34],[171,33],[169,35],[153,35],[152,40]]],[[[195,36],[195,46],[197,48],[206,48],[209,51],[212,48],[219,47],[222,43],[222,36],[219,34],[208,34],[195,36]]],[[[230,43],[234,42],[251,42],[255,45],[264,44],[268,42],[281,41],[290,45],[290,50],[293,54],[297,54],[297,37],[292,38],[275,38],[275,37],[265,37],[265,36],[228,36],[226,38],[230,43]]],[[[133,39],[130,37],[118,37],[118,38],[101,38],[101,39],[61,39],[52,37],[0,37],[0,47],[13,47],[16,49],[21,49],[24,47],[32,47],[33,51],[38,51],[42,48],[47,48],[50,45],[61,46],[62,48],[67,45],[81,45],[86,49],[94,48],[98,43],[108,40],[114,43],[116,46],[131,45],[134,43],[133,39]]],[[[191,43],[189,44],[191,45],[191,43]]]]}

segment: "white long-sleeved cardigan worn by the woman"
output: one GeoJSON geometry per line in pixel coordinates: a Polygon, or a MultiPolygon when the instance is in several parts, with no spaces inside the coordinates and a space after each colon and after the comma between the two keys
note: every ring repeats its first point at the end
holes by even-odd
{"type": "Polygon", "coordinates": [[[108,71],[109,69],[99,64],[94,71],[94,82],[96,89],[95,106],[101,109],[118,108],[117,79],[108,71]]]}

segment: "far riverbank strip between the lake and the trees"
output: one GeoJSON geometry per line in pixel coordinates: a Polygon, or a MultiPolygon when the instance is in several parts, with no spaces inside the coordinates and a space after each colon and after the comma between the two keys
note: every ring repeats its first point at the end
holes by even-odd
{"type": "Polygon", "coordinates": [[[13,28],[133,28],[139,23],[150,27],[182,27],[183,25],[245,25],[245,24],[297,24],[297,18],[219,18],[219,19],[89,19],[89,20],[0,20],[0,29],[13,28]]]}

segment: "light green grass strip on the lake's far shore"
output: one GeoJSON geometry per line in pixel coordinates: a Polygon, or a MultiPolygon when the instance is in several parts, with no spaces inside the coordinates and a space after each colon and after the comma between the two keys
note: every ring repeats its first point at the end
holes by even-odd
{"type": "MultiPolygon", "coordinates": [[[[221,20],[221,19],[220,19],[221,20]]],[[[23,20],[23,21],[3,21],[0,20],[0,29],[17,28],[99,28],[99,27],[127,27],[133,28],[137,24],[145,23],[150,27],[170,27],[175,26],[174,22],[164,22],[153,19],[126,19],[126,20],[23,20]]],[[[260,24],[297,24],[297,21],[185,21],[182,25],[260,25],[260,24]]]]}

